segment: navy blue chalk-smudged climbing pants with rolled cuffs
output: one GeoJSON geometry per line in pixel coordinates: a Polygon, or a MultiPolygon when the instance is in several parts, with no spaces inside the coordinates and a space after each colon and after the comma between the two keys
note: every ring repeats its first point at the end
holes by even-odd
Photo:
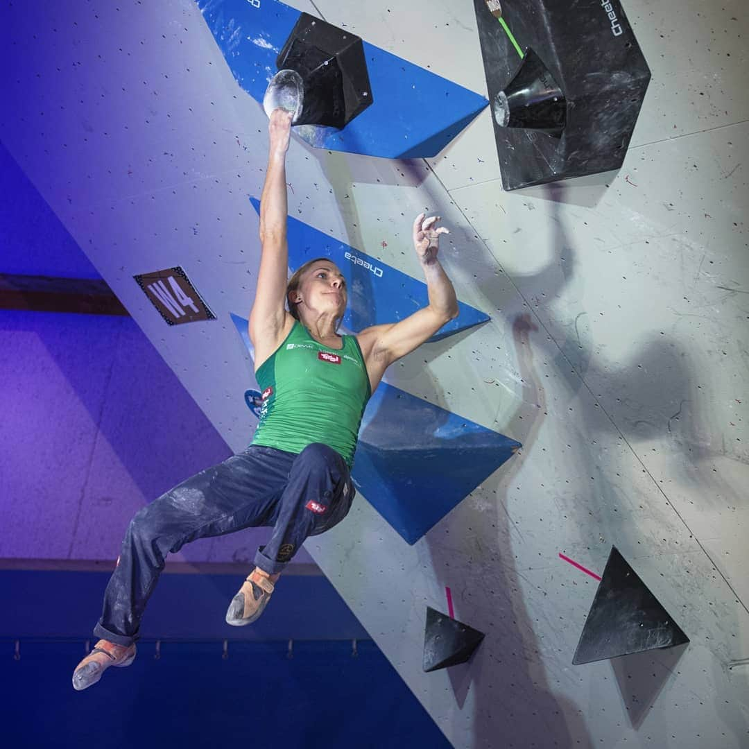
{"type": "Polygon", "coordinates": [[[197,473],[130,521],[94,635],[126,646],[138,639],[145,605],[170,551],[195,539],[272,526],[255,565],[269,574],[281,572],[307,536],[345,518],[354,494],[345,460],[321,444],[299,455],[250,445],[197,473]]]}

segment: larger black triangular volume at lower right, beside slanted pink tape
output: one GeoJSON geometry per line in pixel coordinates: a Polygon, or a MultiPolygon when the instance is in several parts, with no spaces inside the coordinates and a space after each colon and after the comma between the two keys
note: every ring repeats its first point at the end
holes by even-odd
{"type": "Polygon", "coordinates": [[[688,642],[679,625],[612,546],[572,663],[604,661],[688,642]]]}

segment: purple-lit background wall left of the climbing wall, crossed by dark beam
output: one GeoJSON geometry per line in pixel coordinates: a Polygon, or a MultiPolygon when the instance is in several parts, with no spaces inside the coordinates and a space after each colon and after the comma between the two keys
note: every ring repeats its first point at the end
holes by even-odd
{"type": "MultiPolygon", "coordinates": [[[[0,195],[0,276],[99,278],[2,144],[0,195]]],[[[231,455],[131,318],[0,309],[0,352],[0,559],[112,561],[138,509],[231,455]]],[[[262,533],[170,560],[244,562],[262,533]]]]}

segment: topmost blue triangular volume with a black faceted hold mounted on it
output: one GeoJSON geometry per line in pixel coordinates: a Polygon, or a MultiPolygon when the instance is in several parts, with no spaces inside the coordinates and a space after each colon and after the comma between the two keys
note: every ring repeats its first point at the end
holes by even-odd
{"type": "MultiPolygon", "coordinates": [[[[258,5],[247,0],[198,0],[234,78],[261,102],[300,11],[277,0],[258,5]]],[[[434,157],[488,105],[479,94],[429,70],[372,44],[363,46],[372,106],[343,130],[297,128],[310,145],[390,159],[434,157]]]]}

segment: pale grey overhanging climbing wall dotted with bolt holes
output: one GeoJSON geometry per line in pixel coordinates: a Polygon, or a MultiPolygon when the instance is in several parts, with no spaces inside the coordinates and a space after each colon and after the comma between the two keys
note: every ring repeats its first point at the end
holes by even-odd
{"type": "MultiPolygon", "coordinates": [[[[487,94],[470,2],[291,4],[487,94]]],[[[488,109],[426,160],[288,155],[290,215],[380,268],[419,279],[413,216],[443,216],[458,298],[490,318],[387,384],[522,449],[413,543],[363,492],[306,543],[456,747],[748,741],[749,22],[735,0],[625,8],[652,79],[618,172],[504,192],[488,109]],[[573,666],[613,545],[690,643],[573,666]],[[469,663],[424,672],[427,607],[485,634],[469,663]]],[[[256,383],[232,315],[255,290],[261,106],[192,0],[0,14],[0,140],[242,449],[256,383]],[[178,266],[213,319],[167,324],[134,279],[178,266]]]]}

